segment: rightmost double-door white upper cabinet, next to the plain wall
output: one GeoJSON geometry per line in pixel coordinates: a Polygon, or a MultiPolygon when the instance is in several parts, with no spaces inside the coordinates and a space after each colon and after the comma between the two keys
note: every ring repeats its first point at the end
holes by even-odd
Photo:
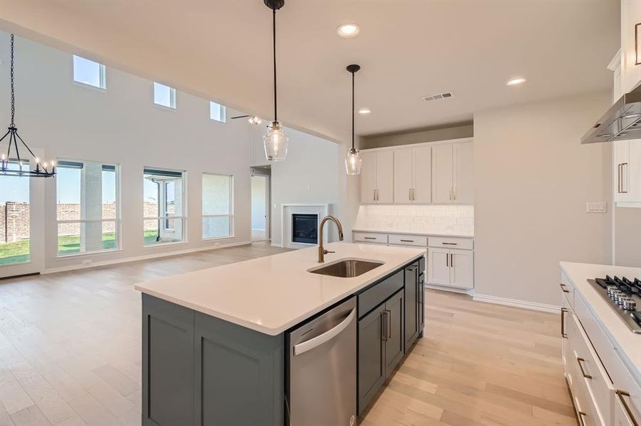
{"type": "Polygon", "coordinates": [[[432,147],[432,202],[474,202],[474,149],[472,142],[432,147]]]}

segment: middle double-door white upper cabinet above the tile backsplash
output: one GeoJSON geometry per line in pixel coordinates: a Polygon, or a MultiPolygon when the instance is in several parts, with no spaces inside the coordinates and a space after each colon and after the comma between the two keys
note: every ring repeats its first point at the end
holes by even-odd
{"type": "Polygon", "coordinates": [[[394,202],[396,204],[432,201],[432,148],[394,150],[394,202]]]}

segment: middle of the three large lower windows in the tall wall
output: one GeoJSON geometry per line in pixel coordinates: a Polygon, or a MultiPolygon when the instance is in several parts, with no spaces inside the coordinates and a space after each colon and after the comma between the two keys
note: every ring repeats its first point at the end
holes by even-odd
{"type": "Polygon", "coordinates": [[[144,168],[145,246],[184,241],[184,172],[144,168]]]}

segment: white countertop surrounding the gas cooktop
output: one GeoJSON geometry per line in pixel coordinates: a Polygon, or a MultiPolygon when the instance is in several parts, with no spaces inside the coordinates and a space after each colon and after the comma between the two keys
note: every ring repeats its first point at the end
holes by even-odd
{"type": "Polygon", "coordinates": [[[561,270],[581,292],[588,307],[597,317],[610,339],[616,342],[623,355],[636,368],[637,377],[641,376],[641,334],[630,331],[616,312],[603,300],[596,290],[588,283],[588,279],[605,278],[605,275],[618,275],[627,278],[641,277],[641,268],[625,266],[593,265],[591,263],[561,262],[561,270]]]}

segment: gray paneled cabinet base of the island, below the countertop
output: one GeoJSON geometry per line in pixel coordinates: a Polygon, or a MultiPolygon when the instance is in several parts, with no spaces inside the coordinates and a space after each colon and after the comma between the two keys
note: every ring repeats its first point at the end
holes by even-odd
{"type": "MultiPolygon", "coordinates": [[[[414,256],[299,322],[356,295],[359,414],[423,334],[424,268],[414,256]]],[[[175,301],[143,290],[142,425],[289,425],[285,336],[297,324],[271,335],[175,301]]]]}

